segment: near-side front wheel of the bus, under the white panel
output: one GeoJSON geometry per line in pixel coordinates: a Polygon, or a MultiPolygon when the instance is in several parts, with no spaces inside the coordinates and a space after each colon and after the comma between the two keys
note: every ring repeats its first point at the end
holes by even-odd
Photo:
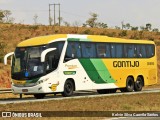
{"type": "Polygon", "coordinates": [[[73,94],[74,91],[74,85],[71,80],[67,80],[64,84],[64,91],[62,93],[62,96],[69,97],[73,94]]]}

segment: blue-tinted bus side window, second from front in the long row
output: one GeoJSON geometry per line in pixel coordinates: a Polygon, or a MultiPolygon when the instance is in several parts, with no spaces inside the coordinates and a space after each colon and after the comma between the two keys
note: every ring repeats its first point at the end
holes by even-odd
{"type": "Polygon", "coordinates": [[[84,58],[95,58],[96,48],[94,43],[81,43],[82,46],[82,57],[84,58]]]}

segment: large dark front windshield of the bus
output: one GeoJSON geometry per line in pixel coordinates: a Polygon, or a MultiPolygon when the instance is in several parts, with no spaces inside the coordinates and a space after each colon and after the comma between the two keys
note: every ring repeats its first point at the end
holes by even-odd
{"type": "Polygon", "coordinates": [[[41,53],[46,46],[16,48],[12,62],[12,78],[27,79],[44,73],[41,53]]]}

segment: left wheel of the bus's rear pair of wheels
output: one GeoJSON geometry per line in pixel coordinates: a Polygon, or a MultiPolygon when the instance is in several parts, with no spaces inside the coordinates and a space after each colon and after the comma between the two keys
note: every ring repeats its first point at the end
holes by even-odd
{"type": "Polygon", "coordinates": [[[134,80],[132,77],[128,77],[126,81],[126,92],[132,92],[134,90],[134,80]]]}

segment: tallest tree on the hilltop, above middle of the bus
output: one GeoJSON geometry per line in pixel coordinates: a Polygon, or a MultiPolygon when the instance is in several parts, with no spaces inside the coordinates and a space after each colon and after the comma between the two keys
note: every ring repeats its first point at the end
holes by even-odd
{"type": "Polygon", "coordinates": [[[96,21],[97,21],[97,17],[98,17],[98,14],[96,13],[90,13],[90,16],[91,18],[89,18],[87,21],[86,21],[86,25],[90,26],[90,27],[96,27],[96,21]]]}

